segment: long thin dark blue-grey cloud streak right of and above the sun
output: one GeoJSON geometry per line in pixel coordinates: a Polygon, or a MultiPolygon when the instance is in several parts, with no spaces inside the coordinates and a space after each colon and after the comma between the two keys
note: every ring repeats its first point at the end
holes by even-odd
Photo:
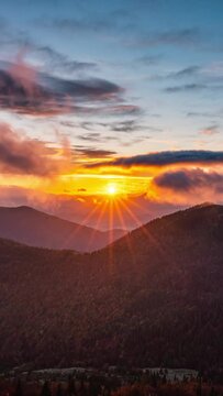
{"type": "Polygon", "coordinates": [[[97,166],[168,166],[175,164],[222,164],[223,152],[188,150],[188,151],[167,151],[158,153],[148,153],[134,155],[130,157],[119,157],[110,162],[101,162],[96,165],[86,165],[87,167],[97,166]]]}

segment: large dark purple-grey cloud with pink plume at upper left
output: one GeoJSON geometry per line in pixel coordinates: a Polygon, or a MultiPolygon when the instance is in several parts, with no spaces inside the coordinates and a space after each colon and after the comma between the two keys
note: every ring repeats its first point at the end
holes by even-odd
{"type": "Polygon", "coordinates": [[[22,56],[7,66],[0,69],[0,106],[4,110],[36,117],[68,112],[110,116],[140,112],[137,106],[122,103],[124,89],[109,80],[49,76],[24,63],[22,56]]]}

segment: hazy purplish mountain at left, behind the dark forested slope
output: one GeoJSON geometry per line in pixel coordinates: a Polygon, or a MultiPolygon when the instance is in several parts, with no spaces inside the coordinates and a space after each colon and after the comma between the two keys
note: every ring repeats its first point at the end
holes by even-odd
{"type": "Polygon", "coordinates": [[[0,207],[0,238],[31,246],[91,252],[104,248],[124,233],[123,230],[102,232],[30,207],[0,207]]]}

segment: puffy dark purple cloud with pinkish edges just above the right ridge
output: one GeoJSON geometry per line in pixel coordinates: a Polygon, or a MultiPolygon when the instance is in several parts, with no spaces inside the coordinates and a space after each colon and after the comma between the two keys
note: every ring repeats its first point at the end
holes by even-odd
{"type": "Polygon", "coordinates": [[[204,172],[200,168],[166,172],[153,180],[159,188],[167,188],[178,193],[189,193],[199,188],[223,193],[223,175],[215,172],[204,172]]]}

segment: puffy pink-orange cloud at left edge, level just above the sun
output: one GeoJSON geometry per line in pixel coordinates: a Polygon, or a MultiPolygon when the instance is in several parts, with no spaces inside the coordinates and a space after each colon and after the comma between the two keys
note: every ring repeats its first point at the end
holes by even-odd
{"type": "Polygon", "coordinates": [[[27,139],[8,124],[0,124],[0,172],[49,177],[58,174],[63,160],[53,157],[43,142],[27,139]]]}

